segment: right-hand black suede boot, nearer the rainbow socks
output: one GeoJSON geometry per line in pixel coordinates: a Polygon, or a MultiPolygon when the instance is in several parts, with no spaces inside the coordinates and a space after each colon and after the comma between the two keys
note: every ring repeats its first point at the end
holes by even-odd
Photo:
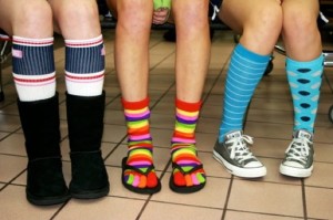
{"type": "Polygon", "coordinates": [[[72,161],[70,192],[77,199],[109,193],[109,178],[101,155],[105,94],[83,97],[67,94],[67,117],[72,161]]]}

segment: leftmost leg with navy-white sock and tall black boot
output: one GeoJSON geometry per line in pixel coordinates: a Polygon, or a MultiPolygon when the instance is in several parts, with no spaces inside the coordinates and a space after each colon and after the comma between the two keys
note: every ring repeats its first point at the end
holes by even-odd
{"type": "Polygon", "coordinates": [[[69,193],[61,164],[52,12],[43,0],[1,0],[0,14],[0,27],[12,35],[12,74],[28,155],[27,199],[38,206],[62,203],[69,193]]]}

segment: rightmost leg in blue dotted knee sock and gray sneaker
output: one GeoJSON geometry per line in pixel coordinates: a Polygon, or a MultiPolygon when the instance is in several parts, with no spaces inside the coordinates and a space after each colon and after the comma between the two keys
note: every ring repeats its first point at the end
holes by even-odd
{"type": "Polygon", "coordinates": [[[313,170],[313,135],[323,72],[321,35],[316,19],[319,2],[283,1],[283,41],[286,74],[294,106],[293,139],[280,171],[309,177],[313,170]]]}

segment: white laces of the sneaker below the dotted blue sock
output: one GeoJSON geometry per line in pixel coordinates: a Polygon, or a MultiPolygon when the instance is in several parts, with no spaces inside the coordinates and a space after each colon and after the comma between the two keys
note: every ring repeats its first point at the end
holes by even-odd
{"type": "Polygon", "coordinates": [[[307,138],[294,138],[285,150],[286,160],[292,159],[305,164],[310,154],[310,144],[312,142],[307,138]]]}

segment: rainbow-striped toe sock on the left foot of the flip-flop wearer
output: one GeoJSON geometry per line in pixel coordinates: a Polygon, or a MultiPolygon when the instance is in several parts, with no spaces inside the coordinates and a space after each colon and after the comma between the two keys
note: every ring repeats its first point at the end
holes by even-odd
{"type": "Polygon", "coordinates": [[[149,170],[153,165],[153,145],[150,135],[150,111],[149,98],[140,102],[128,102],[122,99],[124,116],[128,126],[128,160],[127,164],[133,169],[124,171],[124,180],[128,185],[138,188],[153,188],[158,185],[155,170],[149,170]]]}

